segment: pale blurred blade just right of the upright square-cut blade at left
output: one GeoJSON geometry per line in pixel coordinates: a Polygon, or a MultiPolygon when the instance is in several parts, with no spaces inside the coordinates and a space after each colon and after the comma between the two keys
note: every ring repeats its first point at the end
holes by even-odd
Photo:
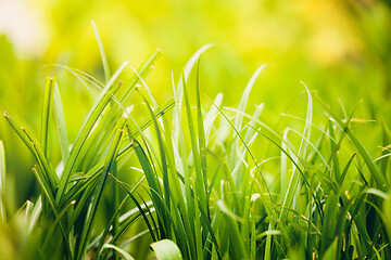
{"type": "Polygon", "coordinates": [[[54,84],[53,98],[54,98],[54,115],[55,115],[56,127],[59,130],[62,161],[63,165],[66,165],[66,161],[70,157],[70,144],[66,134],[65,115],[61,101],[60,89],[56,83],[54,84]]]}

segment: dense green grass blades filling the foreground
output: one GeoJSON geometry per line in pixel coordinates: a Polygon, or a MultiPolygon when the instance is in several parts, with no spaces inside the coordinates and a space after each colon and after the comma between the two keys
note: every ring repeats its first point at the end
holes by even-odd
{"type": "Polygon", "coordinates": [[[2,235],[20,249],[1,249],[7,259],[134,259],[133,243],[144,236],[157,259],[391,259],[387,126],[386,148],[369,153],[355,134],[365,120],[339,116],[303,83],[304,118],[283,115],[291,126],[270,127],[261,119],[262,104],[248,113],[265,66],[251,77],[237,109],[222,106],[222,94],[205,109],[207,79],[199,68],[212,46],[194,53],[177,83],[173,78],[174,99],[160,104],[144,79],[161,51],[121,80],[128,64],[110,73],[93,28],[105,82],[65,68],[100,89],[72,145],[55,78],[45,87],[39,138],[3,114],[34,156],[40,186],[35,203],[27,200],[15,216],[7,212],[0,142],[1,234],[16,229],[26,239],[2,235]],[[144,109],[133,109],[137,99],[144,109]],[[62,167],[54,168],[48,146],[55,134],[51,122],[62,167]],[[142,173],[136,181],[128,181],[134,171],[126,162],[142,173]],[[137,226],[143,230],[130,232],[137,226]]]}

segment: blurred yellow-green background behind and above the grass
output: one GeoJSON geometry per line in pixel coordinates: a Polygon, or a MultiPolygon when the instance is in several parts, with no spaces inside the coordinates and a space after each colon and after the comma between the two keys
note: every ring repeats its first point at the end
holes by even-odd
{"type": "MultiPolygon", "coordinates": [[[[224,92],[224,104],[236,106],[252,73],[266,63],[249,110],[264,102],[263,119],[272,125],[281,113],[301,115],[305,109],[299,80],[339,113],[340,103],[352,112],[363,99],[358,117],[391,122],[387,1],[0,0],[0,108],[37,136],[46,77],[58,77],[71,141],[92,104],[75,77],[45,65],[60,63],[104,79],[91,20],[112,69],[123,61],[137,67],[154,48],[163,50],[148,78],[161,101],[173,94],[172,74],[178,80],[188,58],[214,42],[201,65],[201,88],[212,100],[224,92]]],[[[376,147],[378,132],[365,134],[364,142],[376,147]]],[[[15,199],[10,205],[21,205],[37,192],[31,184],[34,160],[3,119],[0,140],[5,145],[7,181],[15,187],[8,191],[15,199]]]]}

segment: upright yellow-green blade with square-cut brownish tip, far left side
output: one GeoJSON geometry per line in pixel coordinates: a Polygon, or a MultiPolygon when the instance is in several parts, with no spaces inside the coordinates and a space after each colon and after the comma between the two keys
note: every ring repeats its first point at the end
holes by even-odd
{"type": "Polygon", "coordinates": [[[48,158],[49,119],[50,107],[53,102],[54,84],[55,78],[47,78],[45,84],[43,108],[41,119],[41,146],[46,158],[48,158]]]}

